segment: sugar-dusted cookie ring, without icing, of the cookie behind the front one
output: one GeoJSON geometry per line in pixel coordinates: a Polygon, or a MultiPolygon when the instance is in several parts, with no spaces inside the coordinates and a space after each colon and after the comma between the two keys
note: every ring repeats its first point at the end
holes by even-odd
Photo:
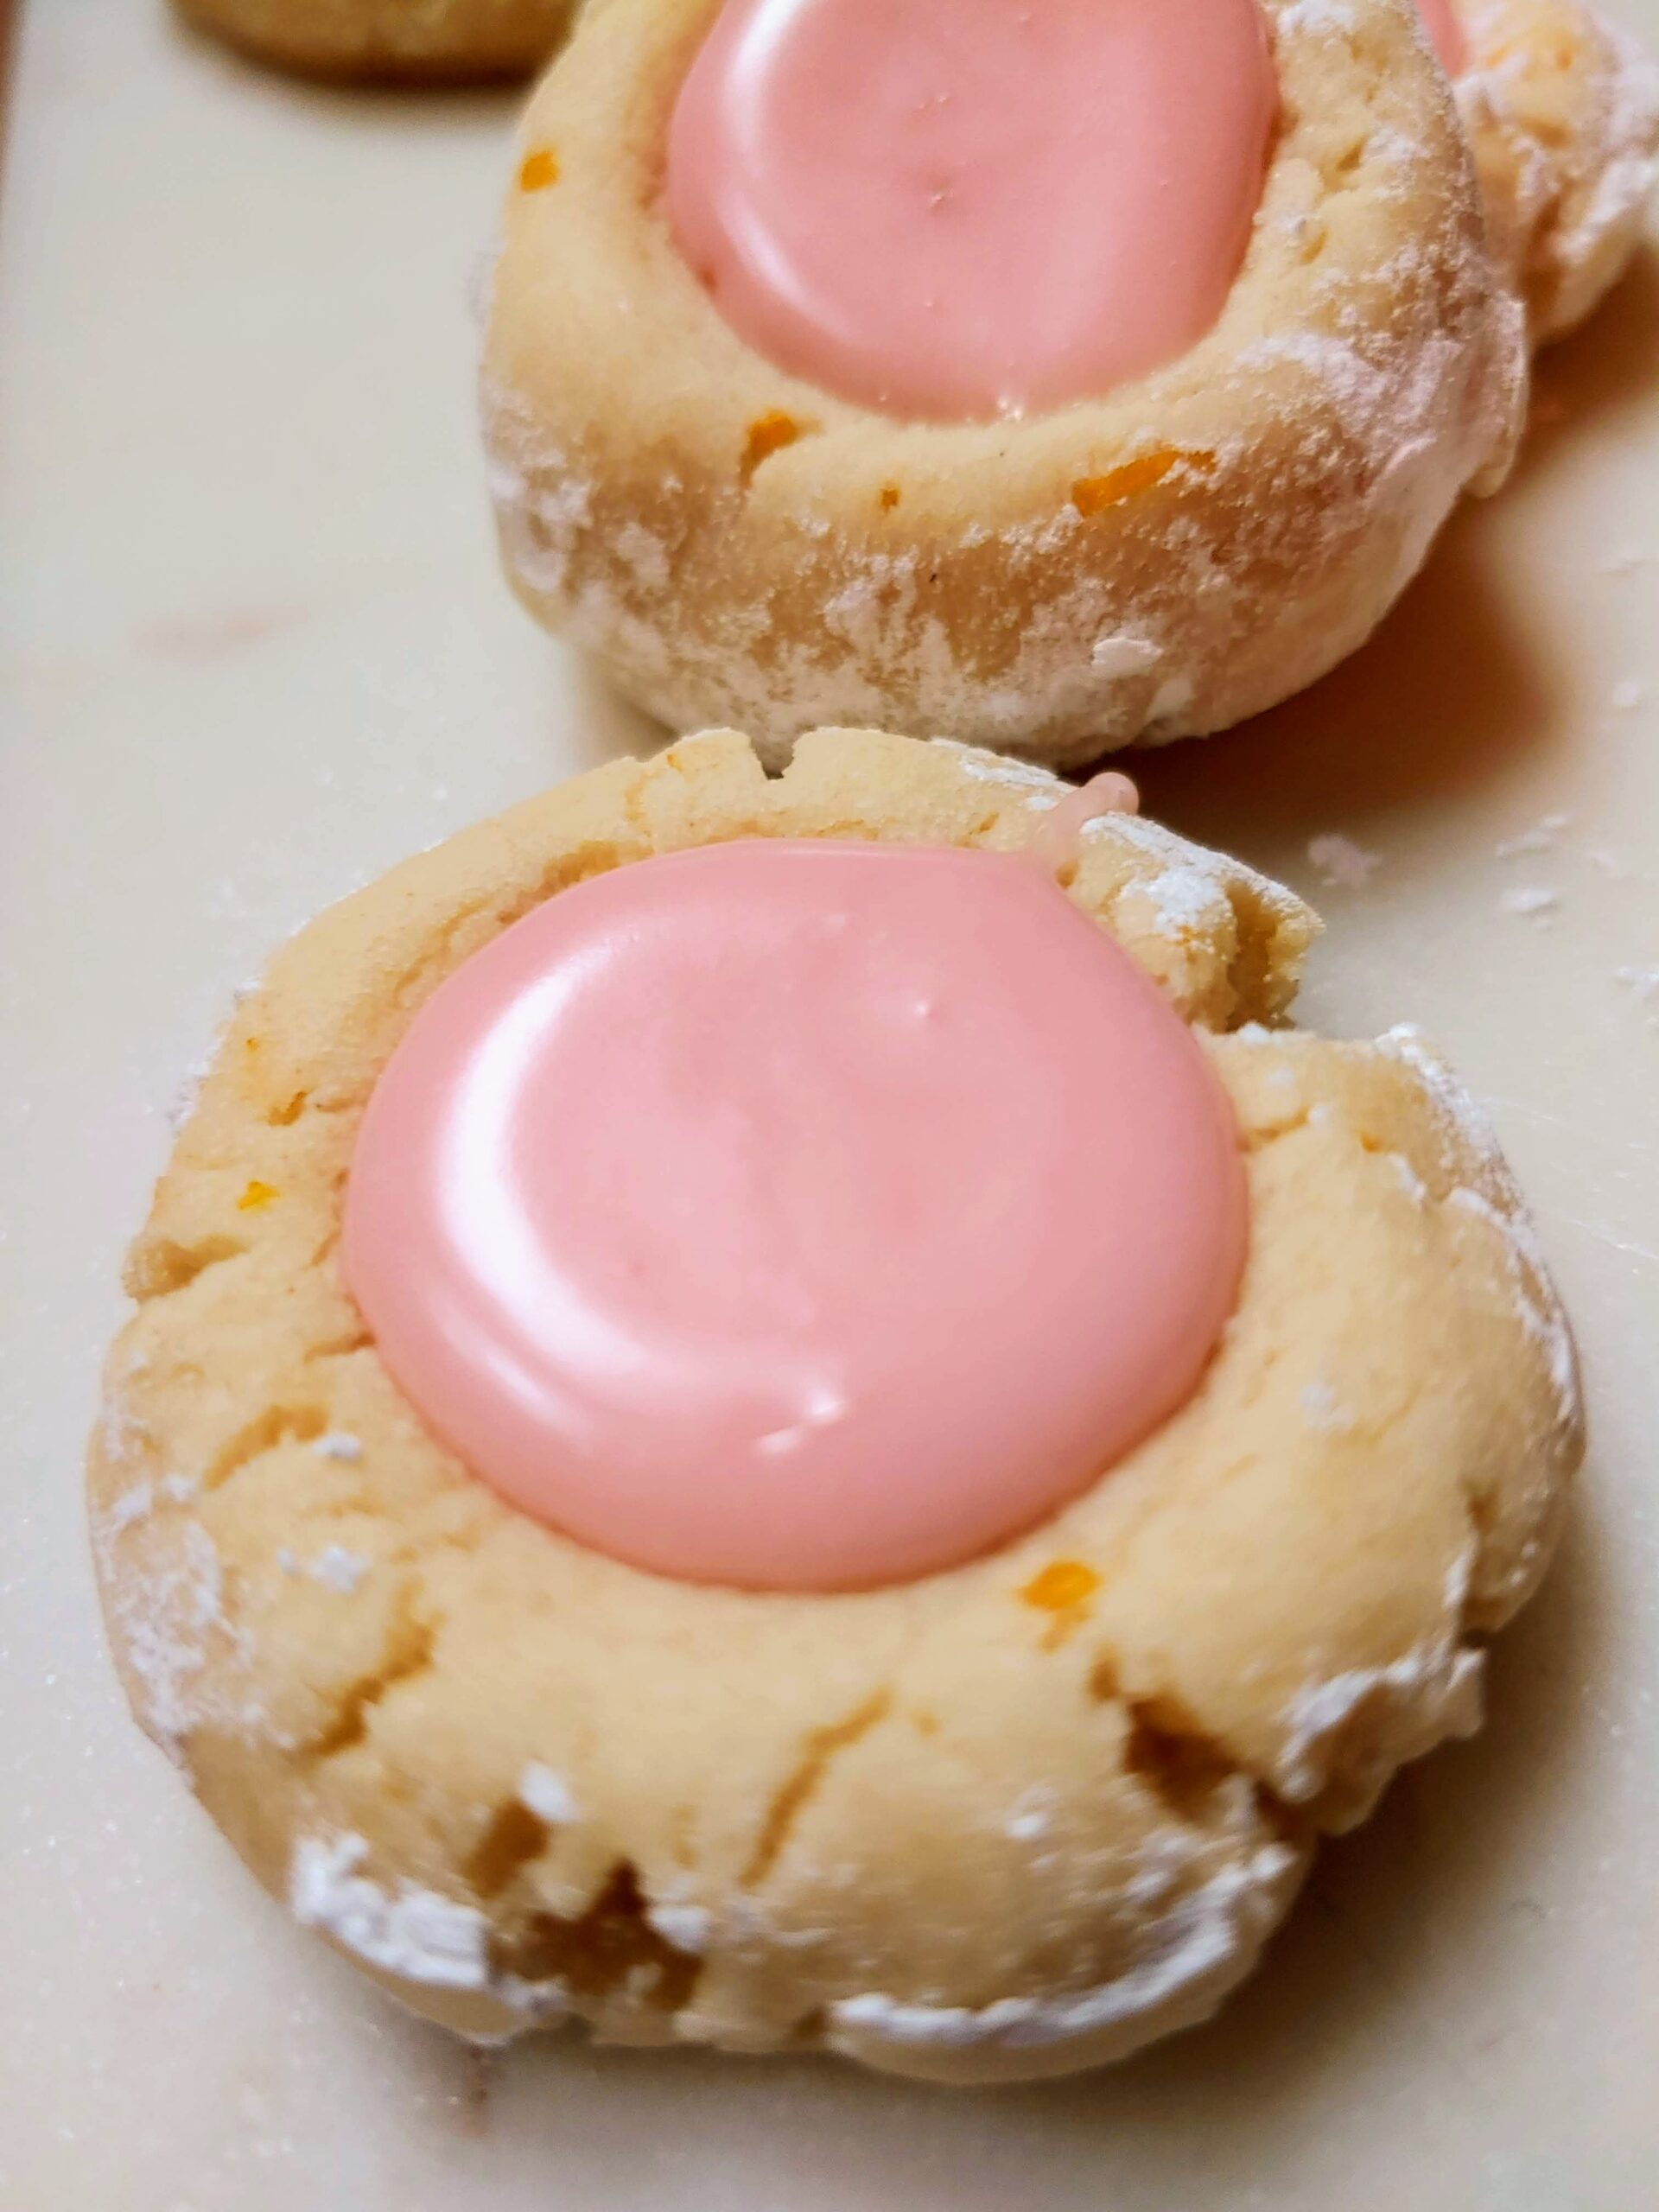
{"type": "Polygon", "coordinates": [[[1097,398],[905,420],[779,367],[675,243],[714,0],[611,0],[531,100],[484,358],[509,580],[670,728],[883,721],[1060,765],[1352,653],[1524,396],[1444,73],[1400,0],[1267,0],[1279,124],[1214,325],[1097,398]]]}

